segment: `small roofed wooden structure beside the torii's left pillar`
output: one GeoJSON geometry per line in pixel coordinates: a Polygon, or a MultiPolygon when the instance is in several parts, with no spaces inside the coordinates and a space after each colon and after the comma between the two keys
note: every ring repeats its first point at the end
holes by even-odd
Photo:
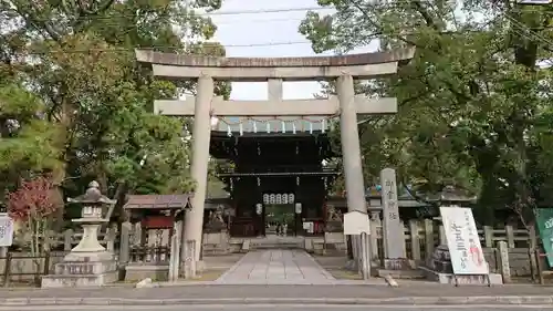
{"type": "Polygon", "coordinates": [[[184,209],[191,207],[190,198],[189,194],[128,196],[124,209],[135,228],[140,225],[134,230],[125,279],[168,278],[175,224],[182,218],[184,209]]]}

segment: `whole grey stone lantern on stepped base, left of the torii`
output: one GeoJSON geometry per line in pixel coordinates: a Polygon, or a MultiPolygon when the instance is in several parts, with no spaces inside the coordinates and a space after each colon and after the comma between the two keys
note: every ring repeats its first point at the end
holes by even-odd
{"type": "Polygon", "coordinates": [[[55,265],[55,273],[42,278],[43,288],[101,287],[117,280],[117,266],[112,252],[98,241],[98,229],[108,221],[102,217],[102,209],[115,205],[100,191],[96,182],[88,184],[82,196],[67,199],[82,206],[81,218],[73,222],[83,227],[83,237],[63,261],[55,265]]]}

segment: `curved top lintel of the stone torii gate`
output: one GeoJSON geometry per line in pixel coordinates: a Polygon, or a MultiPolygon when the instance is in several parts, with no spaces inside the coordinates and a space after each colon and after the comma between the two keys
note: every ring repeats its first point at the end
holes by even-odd
{"type": "Polygon", "coordinates": [[[136,59],[142,63],[199,66],[199,68],[298,68],[298,66],[352,66],[409,61],[414,48],[395,49],[385,52],[334,56],[307,58],[223,58],[160,53],[152,50],[136,50],[136,59]]]}

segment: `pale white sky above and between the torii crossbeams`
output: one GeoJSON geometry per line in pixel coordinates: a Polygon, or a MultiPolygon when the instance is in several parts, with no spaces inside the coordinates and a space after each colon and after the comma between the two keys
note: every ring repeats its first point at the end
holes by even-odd
{"type": "MultiPolygon", "coordinates": [[[[315,8],[316,0],[223,0],[218,12],[259,11],[294,8],[315,8]]],[[[303,17],[307,11],[271,12],[254,14],[213,14],[212,20],[218,27],[215,41],[226,46],[227,56],[234,58],[284,58],[316,55],[310,42],[298,32],[303,17]],[[264,43],[300,42],[303,44],[264,43]],[[244,46],[261,45],[263,46],[244,46]],[[236,46],[240,45],[240,46],[236,46]]],[[[321,13],[332,10],[321,10],[321,13]]],[[[373,52],[378,46],[357,49],[353,52],[373,52]]],[[[326,53],[331,54],[331,53],[326,53]]],[[[284,82],[283,96],[285,100],[313,99],[313,94],[321,91],[317,82],[284,82]]],[[[267,100],[267,83],[233,83],[232,100],[267,100]]]]}

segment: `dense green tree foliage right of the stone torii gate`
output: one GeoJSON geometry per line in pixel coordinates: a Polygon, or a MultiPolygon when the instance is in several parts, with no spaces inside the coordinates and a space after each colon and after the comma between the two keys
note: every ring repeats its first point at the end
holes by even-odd
{"type": "MultiPolygon", "coordinates": [[[[550,187],[551,7],[509,1],[321,0],[336,13],[307,13],[300,31],[316,52],[416,46],[396,76],[359,85],[396,96],[399,112],[361,125],[365,166],[395,166],[405,184],[457,185],[493,210],[528,211],[550,187]]],[[[493,221],[492,217],[488,217],[493,221]]]]}

